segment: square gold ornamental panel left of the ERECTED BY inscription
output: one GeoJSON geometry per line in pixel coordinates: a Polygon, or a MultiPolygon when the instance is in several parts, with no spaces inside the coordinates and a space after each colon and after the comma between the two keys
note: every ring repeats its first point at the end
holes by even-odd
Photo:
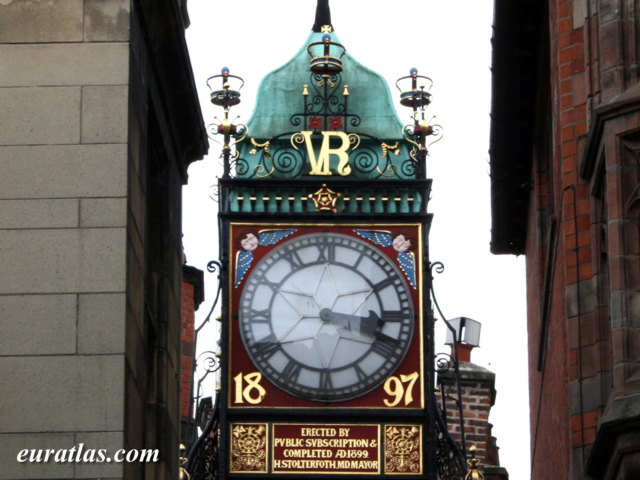
{"type": "Polygon", "coordinates": [[[266,423],[235,423],[231,425],[231,472],[267,471],[266,423]]]}

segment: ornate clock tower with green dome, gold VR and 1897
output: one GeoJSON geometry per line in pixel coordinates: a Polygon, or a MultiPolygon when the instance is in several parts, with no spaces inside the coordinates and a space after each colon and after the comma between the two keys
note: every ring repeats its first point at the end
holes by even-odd
{"type": "Polygon", "coordinates": [[[225,111],[217,476],[436,479],[431,82],[397,83],[403,125],[326,0],[246,125],[229,121],[233,73],[210,79],[225,111]]]}

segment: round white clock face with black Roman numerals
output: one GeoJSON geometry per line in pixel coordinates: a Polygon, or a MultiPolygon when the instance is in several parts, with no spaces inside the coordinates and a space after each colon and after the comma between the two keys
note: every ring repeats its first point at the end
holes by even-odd
{"type": "Polygon", "coordinates": [[[409,289],[375,247],[338,233],[295,237],[255,266],[238,319],[255,366],[280,389],[337,402],[379,386],[413,336],[409,289]]]}

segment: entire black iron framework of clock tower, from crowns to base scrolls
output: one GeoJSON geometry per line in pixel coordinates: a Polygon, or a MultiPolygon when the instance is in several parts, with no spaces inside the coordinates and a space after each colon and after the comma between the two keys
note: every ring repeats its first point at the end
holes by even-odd
{"type": "MultiPolygon", "coordinates": [[[[446,410],[438,404],[435,392],[437,368],[440,367],[437,367],[434,361],[432,305],[435,304],[438,311],[440,309],[433,291],[433,273],[440,272],[443,266],[440,262],[434,264],[429,262],[428,233],[432,216],[427,212],[431,180],[426,176],[428,155],[426,139],[434,137],[434,141],[437,141],[441,138],[441,129],[438,126],[429,125],[424,118],[424,109],[430,102],[430,94],[424,87],[419,87],[417,81],[418,78],[426,77],[419,76],[415,69],[411,71],[409,77],[405,77],[411,79],[412,85],[411,89],[401,91],[401,103],[413,109],[414,122],[404,126],[401,132],[392,133],[393,138],[402,138],[402,140],[390,145],[364,133],[351,133],[352,129],[357,130],[361,125],[361,118],[349,112],[349,89],[343,84],[342,75],[337,70],[338,63],[332,63],[333,59],[328,53],[331,46],[337,45],[327,38],[323,38],[323,42],[322,46],[325,48],[323,60],[316,64],[312,62],[309,84],[301,86],[302,110],[289,118],[291,131],[283,132],[270,139],[250,138],[250,132],[246,126],[234,126],[228,120],[229,108],[239,101],[239,89],[234,91],[228,84],[223,84],[221,90],[214,92],[214,103],[225,109],[225,119],[222,124],[211,129],[213,134],[223,134],[225,137],[222,149],[224,171],[218,182],[221,252],[219,265],[222,278],[221,298],[224,300],[221,316],[227,320],[223,320],[221,332],[225,364],[221,369],[221,382],[223,386],[230,385],[229,369],[226,367],[229,365],[228,356],[232,352],[229,351],[230,347],[225,342],[230,338],[229,321],[238,321],[237,318],[231,318],[230,312],[232,286],[227,266],[229,265],[231,222],[266,225],[277,222],[331,225],[371,222],[387,226],[420,222],[423,256],[418,259],[418,262],[422,262],[422,271],[425,272],[421,285],[423,310],[420,316],[423,319],[424,335],[424,354],[421,358],[425,378],[421,381],[424,383],[425,408],[385,410],[382,408],[346,409],[332,406],[330,409],[323,409],[319,404],[318,408],[304,407],[295,411],[285,411],[286,409],[275,407],[260,408],[259,405],[236,409],[229,408],[228,398],[223,395],[217,398],[210,421],[191,449],[188,469],[192,478],[198,479],[256,478],[255,473],[230,473],[230,458],[225,455],[229,454],[231,447],[231,422],[330,423],[335,422],[336,419],[349,419],[354,424],[370,422],[382,425],[407,422],[420,425],[421,454],[424,460],[424,469],[420,478],[462,480],[466,474],[463,416],[460,415],[462,445],[458,445],[448,433],[446,410]],[[313,70],[314,65],[317,67],[316,70],[321,68],[329,70],[320,74],[313,70]],[[334,67],[336,71],[332,70],[334,67]],[[324,170],[321,174],[311,175],[308,168],[313,163],[311,160],[317,162],[317,159],[309,158],[313,150],[305,142],[309,142],[311,138],[331,141],[333,137],[339,137],[342,142],[348,142],[350,168],[348,175],[340,171],[337,175],[336,172],[329,174],[324,170]],[[235,139],[233,146],[230,142],[232,138],[235,139]],[[392,155],[400,154],[404,154],[405,158],[392,158],[392,155]],[[324,196],[325,203],[319,204],[318,198],[314,196],[324,196]]],[[[223,70],[221,77],[226,81],[233,76],[229,75],[228,70],[223,70]]],[[[332,318],[333,313],[328,315],[332,318]]],[[[363,320],[360,319],[360,321],[363,320]]],[[[448,322],[446,323],[451,328],[448,322]]],[[[245,342],[245,347],[249,350],[252,348],[250,343],[245,342]]],[[[256,348],[259,350],[275,347],[256,348]]],[[[458,384],[457,402],[461,409],[457,360],[454,359],[452,362],[458,384]]],[[[254,363],[260,364],[260,360],[254,363]]],[[[384,462],[382,458],[380,461],[384,462]]],[[[273,473],[263,476],[281,478],[279,474],[273,473]]],[[[308,478],[308,475],[303,474],[286,476],[294,479],[308,478]]],[[[322,474],[318,475],[318,478],[321,476],[347,480],[363,477],[363,475],[322,474]]],[[[392,478],[392,475],[385,473],[376,475],[376,477],[380,476],[392,478]]],[[[417,474],[413,478],[417,478],[417,474]]]]}

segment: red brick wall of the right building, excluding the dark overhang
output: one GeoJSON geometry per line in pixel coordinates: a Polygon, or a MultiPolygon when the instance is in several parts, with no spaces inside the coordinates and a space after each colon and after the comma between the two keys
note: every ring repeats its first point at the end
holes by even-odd
{"type": "Polygon", "coordinates": [[[630,227],[640,184],[639,26],[630,19],[639,7],[548,7],[540,82],[550,80],[550,90],[536,112],[547,124],[536,135],[527,239],[532,478],[583,478],[590,457],[608,461],[592,450],[609,442],[602,427],[616,399],[640,392],[630,381],[640,370],[639,350],[630,348],[640,312],[629,276],[640,268],[630,227]],[[552,221],[556,233],[541,235],[552,221]]]}

